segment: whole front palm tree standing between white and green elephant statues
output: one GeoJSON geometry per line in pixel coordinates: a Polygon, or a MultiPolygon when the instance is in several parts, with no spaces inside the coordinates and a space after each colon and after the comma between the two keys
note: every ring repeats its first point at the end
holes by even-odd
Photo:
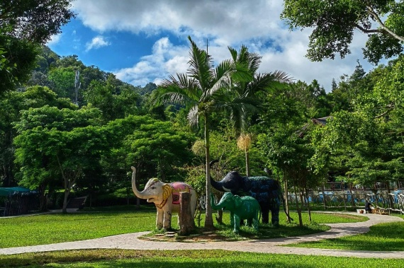
{"type": "Polygon", "coordinates": [[[223,110],[232,89],[232,81],[251,80],[252,75],[245,64],[225,60],[213,66],[211,55],[199,49],[191,42],[189,52],[189,69],[186,74],[169,76],[152,93],[155,104],[176,103],[189,107],[188,120],[190,124],[198,124],[203,119],[206,154],[206,219],[205,228],[213,228],[212,207],[209,202],[211,195],[211,162],[209,153],[209,116],[211,112],[223,110]]]}

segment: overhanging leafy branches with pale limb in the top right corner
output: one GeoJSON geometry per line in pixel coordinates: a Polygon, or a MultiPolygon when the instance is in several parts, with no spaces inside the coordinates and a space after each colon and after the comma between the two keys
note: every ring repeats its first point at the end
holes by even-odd
{"type": "Polygon", "coordinates": [[[306,54],[313,61],[344,58],[359,30],[369,36],[364,56],[377,64],[403,52],[403,15],[402,0],[285,0],[281,18],[291,30],[313,28],[306,54]]]}

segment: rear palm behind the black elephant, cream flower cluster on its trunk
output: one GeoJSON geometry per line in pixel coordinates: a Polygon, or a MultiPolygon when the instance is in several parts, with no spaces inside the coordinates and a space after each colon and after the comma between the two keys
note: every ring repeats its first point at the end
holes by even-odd
{"type": "Polygon", "coordinates": [[[249,174],[249,147],[251,146],[251,135],[247,132],[247,117],[251,112],[257,112],[261,103],[257,99],[256,93],[264,91],[266,88],[283,86],[284,83],[292,81],[284,71],[274,71],[273,73],[257,73],[262,57],[257,53],[250,53],[244,45],[239,52],[232,47],[228,47],[232,56],[233,64],[247,66],[252,80],[232,81],[232,100],[228,100],[230,107],[230,120],[234,124],[236,138],[240,149],[245,151],[246,175],[249,174]]]}

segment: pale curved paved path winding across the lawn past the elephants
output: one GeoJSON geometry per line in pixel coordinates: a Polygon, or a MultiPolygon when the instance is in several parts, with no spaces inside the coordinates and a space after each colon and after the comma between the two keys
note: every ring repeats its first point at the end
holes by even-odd
{"type": "Polygon", "coordinates": [[[296,255],[327,255],[336,257],[376,257],[376,258],[395,258],[404,259],[404,252],[371,252],[371,251],[352,251],[352,250],[326,250],[318,248],[279,247],[279,245],[288,245],[305,241],[315,241],[325,238],[340,238],[345,235],[356,235],[369,231],[369,226],[378,223],[387,223],[392,221],[403,221],[395,216],[386,216],[378,214],[365,214],[369,221],[358,223],[330,223],[329,231],[315,233],[313,235],[303,235],[291,238],[274,238],[268,240],[247,240],[237,242],[207,242],[207,243],[180,243],[180,242],[155,242],[138,239],[139,236],[148,232],[128,233],[123,235],[112,235],[104,238],[91,240],[82,240],[75,242],[57,243],[50,245],[34,245],[28,247],[9,247],[1,248],[0,255],[19,254],[24,252],[46,252],[55,250],[82,250],[97,248],[113,248],[128,250],[233,250],[245,252],[264,252],[276,254],[296,254],[296,255]]]}

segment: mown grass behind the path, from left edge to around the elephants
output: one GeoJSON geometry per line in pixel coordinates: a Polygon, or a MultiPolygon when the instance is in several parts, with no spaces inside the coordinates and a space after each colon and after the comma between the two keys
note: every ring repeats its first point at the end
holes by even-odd
{"type": "MultiPolygon", "coordinates": [[[[0,248],[21,247],[27,245],[45,245],[75,240],[101,238],[108,235],[122,233],[135,233],[140,231],[154,231],[156,212],[150,208],[136,211],[123,211],[122,208],[109,208],[105,211],[83,211],[70,214],[44,214],[35,216],[21,216],[15,218],[0,218],[0,248]]],[[[202,223],[203,223],[202,215],[202,223]]],[[[329,229],[321,223],[364,221],[363,216],[347,214],[321,214],[313,213],[313,223],[308,223],[308,215],[303,214],[303,223],[297,224],[297,214],[291,213],[295,221],[286,223],[286,216],[281,214],[281,226],[274,228],[271,225],[259,226],[256,232],[252,228],[242,227],[240,234],[235,235],[230,228],[230,216],[225,213],[223,222],[225,226],[216,225],[218,234],[230,240],[243,238],[267,239],[296,235],[318,233],[329,229]]],[[[172,227],[178,229],[177,218],[173,217],[172,227]]],[[[201,228],[197,231],[202,232],[201,228]]]]}

